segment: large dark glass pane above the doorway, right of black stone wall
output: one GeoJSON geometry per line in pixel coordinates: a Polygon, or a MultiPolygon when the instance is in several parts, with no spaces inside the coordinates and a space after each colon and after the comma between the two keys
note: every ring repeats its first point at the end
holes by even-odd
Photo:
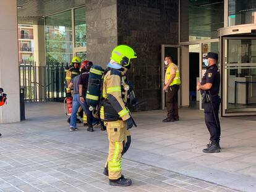
{"type": "Polygon", "coordinates": [[[217,30],[224,27],[222,0],[181,0],[180,4],[180,42],[218,38],[217,30]]]}

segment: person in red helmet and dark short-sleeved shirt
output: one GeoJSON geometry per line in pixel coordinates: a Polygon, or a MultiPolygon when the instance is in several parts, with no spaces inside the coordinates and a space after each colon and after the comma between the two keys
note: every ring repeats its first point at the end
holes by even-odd
{"type": "Polygon", "coordinates": [[[80,102],[87,108],[87,131],[93,131],[93,114],[92,111],[89,110],[89,106],[87,105],[87,102],[85,100],[86,93],[87,93],[87,88],[88,88],[88,79],[90,75],[90,69],[93,65],[93,62],[91,61],[83,61],[81,65],[81,75],[79,78],[79,97],[80,97],[80,102]]]}

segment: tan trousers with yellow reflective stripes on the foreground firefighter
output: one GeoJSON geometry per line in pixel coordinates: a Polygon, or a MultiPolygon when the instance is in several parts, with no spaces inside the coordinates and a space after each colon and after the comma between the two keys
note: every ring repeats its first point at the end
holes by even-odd
{"type": "Polygon", "coordinates": [[[108,149],[108,178],[116,180],[121,177],[122,172],[122,154],[124,144],[130,131],[126,129],[126,123],[122,120],[115,122],[105,122],[108,132],[109,149],[108,149]]]}

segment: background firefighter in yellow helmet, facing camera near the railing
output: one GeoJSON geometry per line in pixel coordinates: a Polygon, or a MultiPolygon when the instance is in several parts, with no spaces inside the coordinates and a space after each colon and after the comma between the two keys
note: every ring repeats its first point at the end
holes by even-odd
{"type": "MultiPolygon", "coordinates": [[[[69,89],[69,84],[75,76],[80,74],[80,64],[81,64],[81,59],[79,57],[73,57],[71,61],[71,66],[69,69],[66,69],[66,96],[67,98],[72,98],[72,89],[69,89]]],[[[70,122],[70,117],[67,119],[67,122],[70,122]]],[[[80,119],[77,119],[77,123],[81,123],[80,119]]]]}

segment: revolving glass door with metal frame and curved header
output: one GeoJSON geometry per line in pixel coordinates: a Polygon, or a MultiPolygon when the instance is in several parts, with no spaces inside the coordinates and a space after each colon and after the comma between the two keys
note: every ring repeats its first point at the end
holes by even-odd
{"type": "Polygon", "coordinates": [[[221,28],[222,115],[256,114],[256,26],[221,28]]]}

